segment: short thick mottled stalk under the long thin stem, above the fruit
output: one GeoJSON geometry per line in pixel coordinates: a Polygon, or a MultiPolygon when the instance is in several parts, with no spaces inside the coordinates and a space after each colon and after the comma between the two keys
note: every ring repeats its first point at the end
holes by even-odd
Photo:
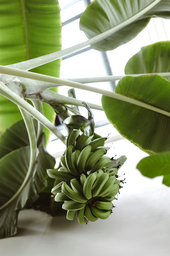
{"type": "MultiPolygon", "coordinates": [[[[46,90],[46,91],[40,92],[38,94],[25,95],[25,97],[27,99],[34,100],[34,101],[42,101],[42,102],[45,102],[45,103],[47,103],[49,105],[53,105],[53,106],[67,104],[67,105],[84,107],[81,100],[78,100],[78,99],[75,99],[72,97],[66,97],[64,95],[55,93],[51,90],[46,90]]],[[[89,102],[87,102],[87,104],[89,105],[89,107],[91,109],[97,109],[97,110],[103,111],[102,106],[92,104],[89,102]]]]}

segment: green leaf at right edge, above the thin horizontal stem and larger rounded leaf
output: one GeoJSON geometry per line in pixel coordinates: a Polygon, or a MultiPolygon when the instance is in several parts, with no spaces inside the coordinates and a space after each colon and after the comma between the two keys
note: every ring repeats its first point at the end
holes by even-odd
{"type": "MultiPolygon", "coordinates": [[[[170,72],[170,42],[158,42],[143,46],[125,66],[125,74],[149,74],[170,72]]],[[[166,77],[170,80],[170,77],[166,77]]]]}

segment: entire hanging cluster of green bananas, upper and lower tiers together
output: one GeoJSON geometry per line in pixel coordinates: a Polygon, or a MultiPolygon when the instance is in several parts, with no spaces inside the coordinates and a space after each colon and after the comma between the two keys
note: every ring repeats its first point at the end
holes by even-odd
{"type": "Polygon", "coordinates": [[[72,130],[60,168],[47,170],[51,178],[58,180],[51,191],[55,201],[64,201],[62,208],[67,210],[67,219],[73,220],[77,213],[80,224],[108,218],[121,187],[118,168],[106,168],[112,162],[104,156],[109,149],[103,146],[106,138],[92,140],[92,137],[72,130]]]}

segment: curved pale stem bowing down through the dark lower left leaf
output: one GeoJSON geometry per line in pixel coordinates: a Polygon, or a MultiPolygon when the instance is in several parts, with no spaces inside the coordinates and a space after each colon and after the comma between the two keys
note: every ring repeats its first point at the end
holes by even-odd
{"type": "MultiPolygon", "coordinates": [[[[16,94],[17,95],[17,94],[16,94]]],[[[10,204],[15,198],[17,198],[29,179],[32,177],[34,169],[35,169],[35,160],[37,157],[37,145],[36,145],[36,133],[35,133],[35,128],[34,128],[34,123],[32,116],[28,114],[26,111],[23,109],[19,108],[22,114],[22,117],[24,119],[27,132],[28,132],[28,137],[29,137],[29,142],[30,142],[30,163],[28,167],[28,172],[25,176],[25,179],[23,180],[21,187],[18,189],[18,191],[4,204],[0,207],[0,210],[5,208],[8,204],[10,204]]]]}

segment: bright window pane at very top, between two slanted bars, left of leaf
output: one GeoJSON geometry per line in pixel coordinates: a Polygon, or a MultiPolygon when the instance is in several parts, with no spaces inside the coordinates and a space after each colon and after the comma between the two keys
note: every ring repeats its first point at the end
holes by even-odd
{"type": "Polygon", "coordinates": [[[78,3],[61,11],[61,21],[64,22],[73,18],[79,13],[82,13],[85,9],[84,1],[79,1],[78,3]]]}

